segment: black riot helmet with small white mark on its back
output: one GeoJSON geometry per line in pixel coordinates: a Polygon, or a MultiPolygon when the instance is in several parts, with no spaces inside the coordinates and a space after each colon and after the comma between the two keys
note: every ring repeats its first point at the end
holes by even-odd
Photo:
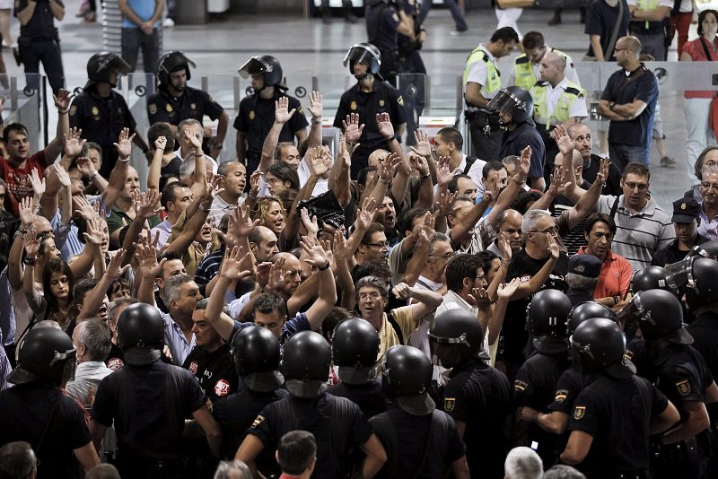
{"type": "Polygon", "coordinates": [[[538,352],[568,351],[566,321],[570,312],[571,300],[563,292],[543,290],[534,294],[526,310],[526,322],[538,352]]]}

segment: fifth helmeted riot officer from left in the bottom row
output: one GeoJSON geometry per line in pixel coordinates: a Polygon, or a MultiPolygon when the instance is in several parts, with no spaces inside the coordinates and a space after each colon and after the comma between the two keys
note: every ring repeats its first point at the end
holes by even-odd
{"type": "Polygon", "coordinates": [[[342,321],[331,339],[332,359],[341,382],[327,392],[350,399],[367,418],[387,409],[381,381],[376,378],[379,344],[376,329],[359,318],[342,321]]]}

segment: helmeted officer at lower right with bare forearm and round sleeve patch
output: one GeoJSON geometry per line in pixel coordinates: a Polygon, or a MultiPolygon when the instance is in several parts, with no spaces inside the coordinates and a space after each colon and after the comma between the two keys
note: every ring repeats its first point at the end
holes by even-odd
{"type": "MultiPolygon", "coordinates": [[[[683,323],[679,300],[670,292],[649,290],[635,294],[629,307],[645,341],[644,366],[639,374],[675,404],[679,424],[655,438],[655,477],[705,477],[707,455],[701,436],[708,433],[706,404],[718,401],[718,387],[703,357],[689,344],[693,336],[683,323]]],[[[640,363],[639,363],[640,364],[640,363]]]]}

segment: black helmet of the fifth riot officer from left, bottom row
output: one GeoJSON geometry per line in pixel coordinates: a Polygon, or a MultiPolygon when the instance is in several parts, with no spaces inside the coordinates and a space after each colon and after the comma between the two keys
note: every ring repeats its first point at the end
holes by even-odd
{"type": "Polygon", "coordinates": [[[349,318],[334,329],[331,355],[339,367],[339,378],[346,384],[364,384],[374,379],[379,333],[368,321],[349,318]]]}

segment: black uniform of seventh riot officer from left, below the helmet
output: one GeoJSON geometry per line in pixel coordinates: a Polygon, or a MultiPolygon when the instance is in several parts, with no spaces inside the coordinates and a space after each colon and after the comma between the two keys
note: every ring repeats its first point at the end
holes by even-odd
{"type": "Polygon", "coordinates": [[[472,477],[501,477],[508,440],[511,383],[503,372],[471,360],[455,366],[443,392],[443,410],[466,424],[464,443],[472,477]]]}

